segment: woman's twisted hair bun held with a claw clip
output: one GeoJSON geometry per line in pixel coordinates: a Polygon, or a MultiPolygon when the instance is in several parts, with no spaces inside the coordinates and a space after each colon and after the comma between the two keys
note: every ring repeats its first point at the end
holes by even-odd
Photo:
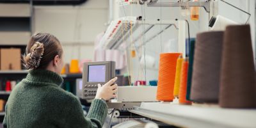
{"type": "Polygon", "coordinates": [[[29,53],[23,58],[25,67],[28,70],[39,67],[43,54],[44,54],[44,44],[40,42],[35,42],[35,44],[32,45],[29,53]]]}

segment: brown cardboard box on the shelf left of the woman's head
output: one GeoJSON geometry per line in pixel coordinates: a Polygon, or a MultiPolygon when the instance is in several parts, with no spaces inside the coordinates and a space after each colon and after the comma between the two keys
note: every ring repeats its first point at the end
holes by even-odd
{"type": "Polygon", "coordinates": [[[21,70],[20,49],[0,49],[1,70],[21,70]]]}

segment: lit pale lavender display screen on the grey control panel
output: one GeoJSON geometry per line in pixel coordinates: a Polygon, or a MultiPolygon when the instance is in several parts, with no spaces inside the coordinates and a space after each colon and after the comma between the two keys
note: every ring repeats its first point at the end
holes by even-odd
{"type": "Polygon", "coordinates": [[[105,82],[106,65],[89,66],[88,82],[105,82]]]}

